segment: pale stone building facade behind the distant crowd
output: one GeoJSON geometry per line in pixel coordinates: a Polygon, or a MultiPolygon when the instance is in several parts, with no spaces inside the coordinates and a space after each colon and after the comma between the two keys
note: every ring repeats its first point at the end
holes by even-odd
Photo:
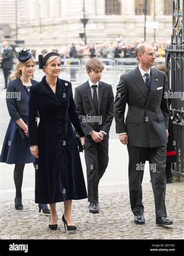
{"type": "MultiPolygon", "coordinates": [[[[1,0],[0,40],[24,40],[20,47],[36,50],[80,43],[83,2],[87,43],[110,43],[119,34],[125,41],[144,38],[145,0],[1,0]]],[[[172,0],[147,0],[148,41],[170,40],[171,6],[172,0]]]]}

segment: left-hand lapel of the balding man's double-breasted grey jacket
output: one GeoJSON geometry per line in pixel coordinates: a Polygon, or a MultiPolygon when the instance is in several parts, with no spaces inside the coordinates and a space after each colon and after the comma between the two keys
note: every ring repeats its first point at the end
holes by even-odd
{"type": "Polygon", "coordinates": [[[135,68],[135,72],[134,72],[134,76],[132,77],[132,80],[137,85],[139,90],[142,92],[142,94],[144,95],[146,100],[148,100],[149,92],[148,92],[146,84],[145,84],[145,82],[144,82],[144,80],[143,80],[143,78],[141,76],[141,72],[139,71],[139,67],[138,66],[137,66],[137,68],[135,68]]]}

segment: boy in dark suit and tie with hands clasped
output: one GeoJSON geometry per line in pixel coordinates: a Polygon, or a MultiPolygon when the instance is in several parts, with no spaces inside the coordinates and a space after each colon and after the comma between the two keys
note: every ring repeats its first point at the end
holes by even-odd
{"type": "Polygon", "coordinates": [[[97,58],[86,62],[89,80],[75,88],[75,105],[85,131],[85,163],[89,212],[99,213],[98,185],[108,166],[109,130],[114,95],[110,84],[100,82],[104,66],[97,58]]]}

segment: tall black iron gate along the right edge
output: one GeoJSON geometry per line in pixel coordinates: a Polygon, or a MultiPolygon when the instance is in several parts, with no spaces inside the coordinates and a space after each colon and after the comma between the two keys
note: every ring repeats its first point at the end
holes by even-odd
{"type": "Polygon", "coordinates": [[[184,0],[174,0],[173,34],[171,44],[166,48],[166,66],[170,69],[172,94],[171,117],[175,134],[177,162],[172,164],[172,173],[184,177],[184,0]]]}

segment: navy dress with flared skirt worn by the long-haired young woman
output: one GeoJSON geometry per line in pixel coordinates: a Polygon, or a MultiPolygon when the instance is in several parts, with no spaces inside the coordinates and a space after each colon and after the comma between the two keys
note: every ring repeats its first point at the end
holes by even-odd
{"type": "MultiPolygon", "coordinates": [[[[29,103],[30,93],[24,85],[27,103],[29,103]]],[[[20,115],[24,123],[28,123],[28,115],[20,115]]],[[[22,139],[18,125],[10,119],[5,139],[2,146],[0,162],[6,164],[29,164],[35,162],[35,157],[31,155],[28,138],[22,139]]]]}

